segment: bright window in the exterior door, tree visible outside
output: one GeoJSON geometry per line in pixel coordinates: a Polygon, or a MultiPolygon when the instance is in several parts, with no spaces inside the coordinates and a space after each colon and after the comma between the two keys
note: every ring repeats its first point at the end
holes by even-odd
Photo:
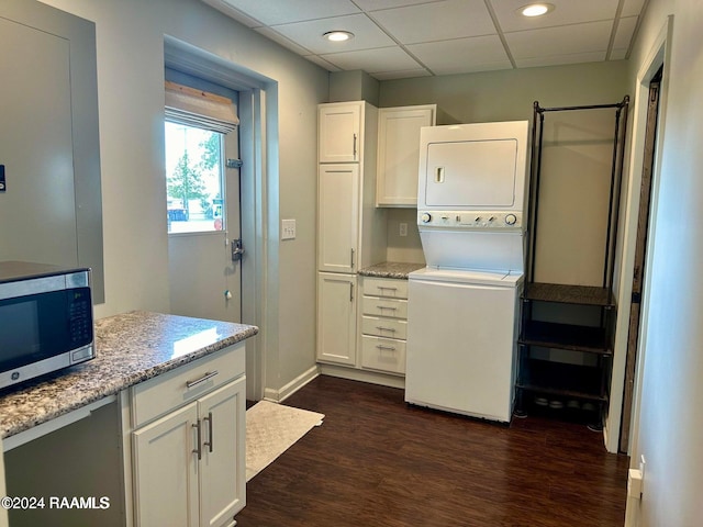
{"type": "Polygon", "coordinates": [[[169,233],[224,229],[223,135],[166,121],[169,233]]]}

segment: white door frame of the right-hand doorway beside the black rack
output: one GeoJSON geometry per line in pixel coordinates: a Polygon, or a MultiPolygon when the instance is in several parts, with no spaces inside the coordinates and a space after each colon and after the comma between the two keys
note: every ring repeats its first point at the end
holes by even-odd
{"type": "MultiPolygon", "coordinates": [[[[657,203],[659,198],[659,182],[661,171],[661,138],[665,135],[667,97],[669,92],[669,71],[671,64],[671,31],[673,16],[669,16],[661,27],[649,54],[645,57],[637,74],[635,88],[633,136],[629,150],[628,194],[626,203],[625,235],[623,238],[623,258],[621,264],[620,294],[617,300],[618,312],[629,313],[632,301],[633,271],[635,261],[635,245],[637,238],[637,215],[639,212],[639,188],[645,152],[645,135],[647,126],[647,108],[649,104],[649,85],[659,68],[663,66],[663,78],[659,99],[659,125],[657,131],[657,144],[655,148],[655,166],[651,173],[651,205],[649,211],[649,232],[647,235],[647,249],[645,268],[651,269],[651,245],[656,236],[657,203]]],[[[635,373],[635,386],[633,391],[632,424],[629,434],[629,449],[632,463],[637,468],[637,436],[639,431],[639,412],[641,401],[641,380],[644,372],[645,352],[647,349],[646,328],[649,315],[649,291],[651,273],[645,273],[641,295],[641,313],[639,324],[639,339],[637,344],[637,366],[635,373]]],[[[605,426],[605,448],[609,452],[617,452],[620,441],[620,425],[622,419],[623,390],[625,383],[625,362],[627,356],[627,334],[629,316],[618,316],[615,329],[615,360],[611,384],[610,410],[605,426]]]]}

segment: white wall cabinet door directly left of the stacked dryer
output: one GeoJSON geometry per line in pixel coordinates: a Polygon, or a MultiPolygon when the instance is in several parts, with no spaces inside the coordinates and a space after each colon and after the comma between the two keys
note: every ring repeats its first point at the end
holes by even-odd
{"type": "Polygon", "coordinates": [[[417,205],[420,128],[434,124],[434,104],[379,110],[377,205],[417,205]]]}

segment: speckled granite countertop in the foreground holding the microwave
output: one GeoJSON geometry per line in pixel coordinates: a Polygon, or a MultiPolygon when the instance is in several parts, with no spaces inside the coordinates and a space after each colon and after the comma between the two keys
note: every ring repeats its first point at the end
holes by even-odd
{"type": "Polygon", "coordinates": [[[114,395],[257,333],[256,326],[142,311],[98,319],[94,359],[0,391],[0,437],[114,395]]]}

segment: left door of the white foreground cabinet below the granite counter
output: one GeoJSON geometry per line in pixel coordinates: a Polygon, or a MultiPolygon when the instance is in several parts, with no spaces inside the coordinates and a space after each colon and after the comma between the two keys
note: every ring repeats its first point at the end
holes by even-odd
{"type": "Polygon", "coordinates": [[[197,527],[197,403],[132,434],[137,527],[197,527]]]}

